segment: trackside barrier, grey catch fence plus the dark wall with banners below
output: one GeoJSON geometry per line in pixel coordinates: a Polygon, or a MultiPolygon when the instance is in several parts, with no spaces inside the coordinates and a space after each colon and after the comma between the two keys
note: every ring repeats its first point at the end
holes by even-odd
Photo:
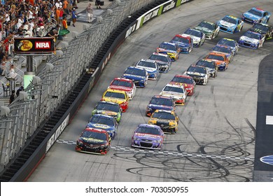
{"type": "Polygon", "coordinates": [[[83,34],[72,32],[75,38],[50,59],[25,90],[27,94],[21,93],[9,109],[1,107],[0,181],[25,181],[69,124],[118,46],[152,18],[187,1],[115,1],[83,34]]]}

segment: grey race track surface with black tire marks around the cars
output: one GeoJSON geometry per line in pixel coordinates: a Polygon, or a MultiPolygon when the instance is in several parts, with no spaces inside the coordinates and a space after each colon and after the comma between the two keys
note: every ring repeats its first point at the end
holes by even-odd
{"type": "MultiPolygon", "coordinates": [[[[50,148],[28,181],[252,181],[258,67],[273,52],[273,41],[266,41],[258,50],[240,47],[227,71],[219,72],[206,86],[196,86],[186,106],[176,107],[179,132],[166,135],[162,153],[130,150],[132,132],[137,125],[148,123],[145,111],[151,97],[159,94],[176,73],[183,73],[190,64],[207,55],[220,38],[238,40],[251,27],[246,23],[240,33],[220,32],[214,40],[193,48],[190,54],[181,54],[169,73],[161,73],[158,80],[148,80],[145,88],[138,88],[129,109],[123,113],[118,137],[107,155],[77,153],[73,141],[85,128],[111,80],[121,76],[127,66],[148,58],[162,41],[171,40],[202,20],[216,22],[226,14],[241,17],[241,13],[254,6],[273,13],[272,0],[195,0],[154,18],[134,32],[107,64],[59,142],[50,148]]],[[[269,24],[272,21],[273,17],[269,24]]]]}

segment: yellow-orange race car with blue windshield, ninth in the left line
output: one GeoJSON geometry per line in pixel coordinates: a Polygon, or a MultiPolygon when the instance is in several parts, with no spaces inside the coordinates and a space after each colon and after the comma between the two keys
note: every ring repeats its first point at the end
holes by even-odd
{"type": "Polygon", "coordinates": [[[155,49],[155,52],[167,54],[172,61],[176,61],[179,59],[180,48],[176,43],[162,42],[158,48],[155,49]]]}

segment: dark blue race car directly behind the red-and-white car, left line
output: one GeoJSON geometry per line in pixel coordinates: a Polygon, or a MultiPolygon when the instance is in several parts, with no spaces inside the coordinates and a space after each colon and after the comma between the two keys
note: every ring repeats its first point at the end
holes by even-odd
{"type": "Polygon", "coordinates": [[[124,71],[122,77],[133,80],[137,87],[145,87],[148,81],[148,72],[143,68],[129,66],[124,71]]]}

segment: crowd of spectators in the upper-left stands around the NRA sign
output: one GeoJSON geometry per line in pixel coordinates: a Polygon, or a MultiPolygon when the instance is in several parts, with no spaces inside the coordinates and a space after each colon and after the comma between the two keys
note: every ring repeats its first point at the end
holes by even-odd
{"type": "Polygon", "coordinates": [[[62,20],[73,8],[78,8],[76,1],[1,0],[0,74],[3,73],[6,62],[13,56],[14,37],[50,36],[50,31],[56,27],[62,28],[62,20]]]}

